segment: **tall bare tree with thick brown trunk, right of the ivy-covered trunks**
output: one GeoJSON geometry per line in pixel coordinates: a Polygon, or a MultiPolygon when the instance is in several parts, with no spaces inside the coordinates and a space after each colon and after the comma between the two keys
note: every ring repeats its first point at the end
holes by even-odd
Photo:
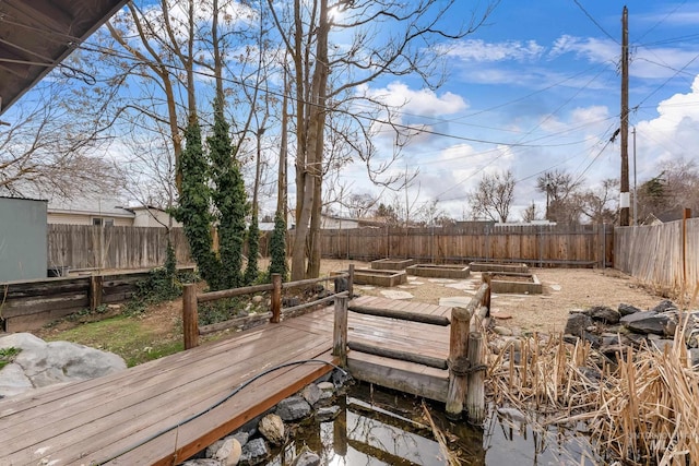
{"type": "MultiPolygon", "coordinates": [[[[295,0],[288,10],[268,0],[294,63],[297,195],[292,279],[318,276],[320,270],[321,167],[328,113],[350,113],[346,104],[356,98],[356,89],[381,75],[417,74],[430,87],[438,86],[443,77],[439,58],[446,51],[439,43],[473,32],[491,10],[489,5],[465,27],[447,32],[441,23],[453,4],[453,0],[340,1],[332,5],[340,14],[331,17],[329,0],[295,0]],[[351,34],[351,44],[331,46],[332,29],[351,34]],[[329,82],[331,73],[336,81],[329,82]]],[[[356,121],[368,132],[367,121],[356,121]]],[[[359,154],[365,160],[371,155],[370,151],[359,154]]]]}

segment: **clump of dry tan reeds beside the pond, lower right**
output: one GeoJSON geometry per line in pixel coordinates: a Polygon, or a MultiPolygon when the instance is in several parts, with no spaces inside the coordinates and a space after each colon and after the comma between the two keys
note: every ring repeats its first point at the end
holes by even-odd
{"type": "Polygon", "coordinates": [[[609,461],[699,463],[699,373],[687,367],[682,343],[664,354],[628,348],[612,365],[588,343],[534,335],[506,347],[488,375],[498,405],[534,414],[542,428],[583,423],[609,461]]]}

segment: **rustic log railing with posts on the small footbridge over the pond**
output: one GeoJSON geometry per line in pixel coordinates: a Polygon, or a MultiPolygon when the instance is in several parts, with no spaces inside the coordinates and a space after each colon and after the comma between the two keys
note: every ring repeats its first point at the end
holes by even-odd
{"type": "Polygon", "coordinates": [[[483,284],[465,308],[453,308],[451,318],[426,315],[407,311],[395,311],[370,307],[352,306],[348,298],[335,298],[335,319],[333,331],[333,356],[340,365],[347,366],[347,350],[420,363],[424,366],[449,369],[449,390],[447,394],[447,415],[460,417],[464,404],[469,420],[482,422],[485,418],[485,328],[490,316],[490,274],[483,274],[483,284]],[[399,319],[450,328],[449,358],[440,359],[362,344],[347,339],[348,311],[380,318],[399,319]]]}

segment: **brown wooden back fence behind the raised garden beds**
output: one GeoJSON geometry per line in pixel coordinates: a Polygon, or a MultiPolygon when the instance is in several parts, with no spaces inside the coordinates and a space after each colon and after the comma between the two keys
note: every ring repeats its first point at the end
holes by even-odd
{"type": "MultiPolygon", "coordinates": [[[[292,238],[288,243],[293,243],[292,238]]],[[[411,258],[428,263],[525,262],[535,266],[608,266],[608,225],[478,228],[359,228],[323,230],[323,258],[375,261],[411,258]]]]}

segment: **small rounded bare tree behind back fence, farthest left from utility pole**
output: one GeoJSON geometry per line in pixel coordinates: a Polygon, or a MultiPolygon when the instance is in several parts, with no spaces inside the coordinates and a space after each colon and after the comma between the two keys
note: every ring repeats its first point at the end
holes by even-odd
{"type": "Polygon", "coordinates": [[[510,215],[516,184],[514,176],[510,170],[502,174],[483,174],[475,191],[469,194],[474,217],[506,223],[510,215]]]}

